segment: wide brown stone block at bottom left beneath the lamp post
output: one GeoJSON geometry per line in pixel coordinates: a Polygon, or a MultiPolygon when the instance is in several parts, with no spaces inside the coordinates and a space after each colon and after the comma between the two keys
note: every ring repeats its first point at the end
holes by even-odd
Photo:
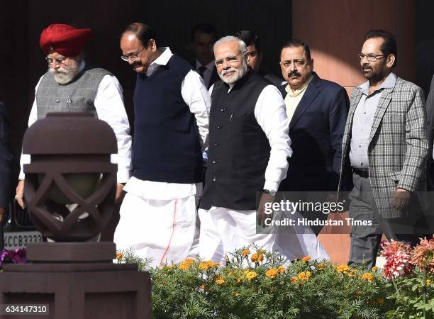
{"type": "Polygon", "coordinates": [[[45,304],[49,314],[2,319],[150,319],[148,272],[130,264],[6,264],[0,304],[45,304]]]}

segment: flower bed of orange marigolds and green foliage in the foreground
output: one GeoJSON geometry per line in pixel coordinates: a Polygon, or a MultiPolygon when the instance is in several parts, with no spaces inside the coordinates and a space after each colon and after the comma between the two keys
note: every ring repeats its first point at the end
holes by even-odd
{"type": "MultiPolygon", "coordinates": [[[[187,259],[152,276],[155,318],[434,318],[434,240],[412,250],[385,242],[384,269],[336,266],[306,256],[290,267],[257,247],[228,265],[187,259]]],[[[118,262],[136,262],[119,252],[118,262]]]]}

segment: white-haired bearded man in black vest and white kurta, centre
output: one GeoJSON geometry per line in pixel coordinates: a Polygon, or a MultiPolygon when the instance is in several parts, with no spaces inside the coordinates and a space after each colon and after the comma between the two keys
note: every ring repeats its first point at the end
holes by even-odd
{"type": "Polygon", "coordinates": [[[199,217],[200,257],[225,262],[225,254],[255,242],[272,251],[275,234],[256,233],[256,194],[272,201],[291,156],[279,90],[252,72],[245,43],[233,36],[214,45],[221,81],[211,88],[208,170],[199,217]]]}

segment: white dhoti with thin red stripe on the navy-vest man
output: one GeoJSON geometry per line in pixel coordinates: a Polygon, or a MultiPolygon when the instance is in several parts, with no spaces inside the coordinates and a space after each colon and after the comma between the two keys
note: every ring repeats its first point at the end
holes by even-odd
{"type": "Polygon", "coordinates": [[[127,193],[114,234],[117,250],[132,248],[135,255],[152,259],[152,267],[196,257],[195,196],[169,200],[147,199],[127,193]]]}

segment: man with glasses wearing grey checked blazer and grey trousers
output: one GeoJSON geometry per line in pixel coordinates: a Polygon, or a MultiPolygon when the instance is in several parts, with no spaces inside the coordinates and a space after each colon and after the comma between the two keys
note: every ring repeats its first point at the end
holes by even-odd
{"type": "Polygon", "coordinates": [[[416,243],[417,235],[406,234],[418,220],[420,205],[414,192],[425,189],[428,140],[421,88],[392,72],[397,60],[395,36],[369,31],[359,60],[367,82],[352,91],[340,189],[345,189],[352,171],[350,218],[372,225],[352,226],[350,263],[366,262],[370,268],[382,233],[416,243]]]}

